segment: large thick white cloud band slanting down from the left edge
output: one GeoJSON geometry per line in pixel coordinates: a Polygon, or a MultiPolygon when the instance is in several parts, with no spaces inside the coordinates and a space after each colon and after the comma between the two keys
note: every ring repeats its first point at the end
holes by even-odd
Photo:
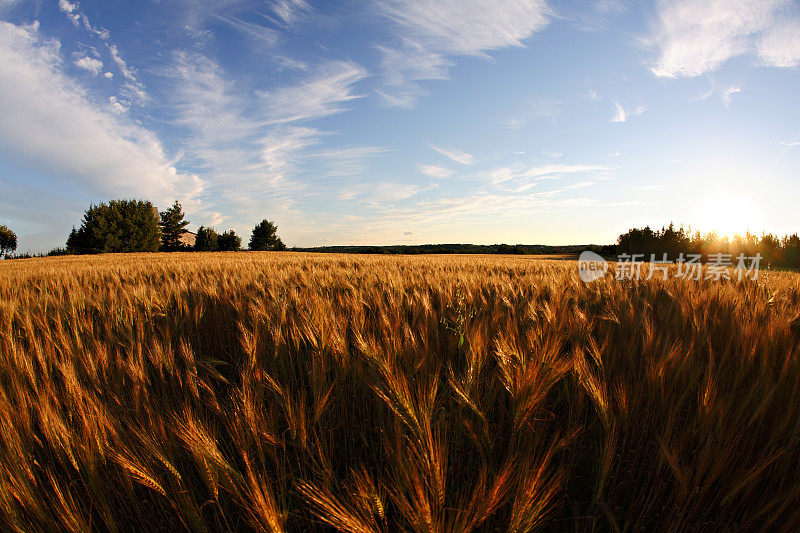
{"type": "Polygon", "coordinates": [[[95,197],[166,202],[202,189],[175,169],[154,134],[93,103],[64,73],[60,43],[43,39],[36,23],[0,22],[0,115],[5,150],[95,197]]]}

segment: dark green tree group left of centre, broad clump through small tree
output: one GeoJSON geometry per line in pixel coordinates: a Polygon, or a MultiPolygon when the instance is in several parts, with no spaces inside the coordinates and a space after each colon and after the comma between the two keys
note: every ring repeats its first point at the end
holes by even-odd
{"type": "MultiPolygon", "coordinates": [[[[158,217],[156,212],[147,200],[111,200],[91,205],[80,228],[72,228],[64,252],[236,251],[242,247],[242,239],[233,230],[219,234],[205,226],[200,226],[194,246],[189,247],[183,241],[189,221],[180,203],[176,200],[158,217]]],[[[253,228],[250,250],[285,250],[277,232],[275,224],[262,220],[253,228]]]]}

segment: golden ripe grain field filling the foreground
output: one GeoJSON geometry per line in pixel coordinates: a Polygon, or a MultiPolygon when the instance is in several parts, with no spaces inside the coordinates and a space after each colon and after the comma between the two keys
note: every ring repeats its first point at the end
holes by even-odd
{"type": "Polygon", "coordinates": [[[3,530],[800,528],[800,276],[0,262],[3,530]]]}

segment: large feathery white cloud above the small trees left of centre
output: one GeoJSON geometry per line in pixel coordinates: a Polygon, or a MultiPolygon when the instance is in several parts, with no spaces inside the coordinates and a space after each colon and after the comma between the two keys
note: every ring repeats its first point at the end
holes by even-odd
{"type": "Polygon", "coordinates": [[[322,180],[360,175],[368,160],[383,151],[367,146],[321,149],[322,138],[331,134],[306,123],[345,111],[345,104],[357,97],[352,84],[361,79],[363,69],[336,61],[314,72],[301,83],[258,93],[255,99],[216,62],[199,54],[175,54],[164,73],[170,78],[167,102],[176,124],[188,133],[185,159],[202,168],[208,197],[234,219],[281,213],[284,221],[294,217],[293,231],[307,231],[298,229],[303,215],[295,202],[315,194],[334,197],[334,180],[322,180]]]}

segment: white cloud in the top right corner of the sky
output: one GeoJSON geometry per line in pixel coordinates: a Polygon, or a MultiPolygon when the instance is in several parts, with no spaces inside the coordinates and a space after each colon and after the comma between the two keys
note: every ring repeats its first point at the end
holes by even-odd
{"type": "Polygon", "coordinates": [[[694,77],[744,54],[758,54],[771,66],[795,66],[800,23],[784,11],[789,6],[788,0],[662,0],[650,40],[659,52],[652,71],[694,77]]]}

